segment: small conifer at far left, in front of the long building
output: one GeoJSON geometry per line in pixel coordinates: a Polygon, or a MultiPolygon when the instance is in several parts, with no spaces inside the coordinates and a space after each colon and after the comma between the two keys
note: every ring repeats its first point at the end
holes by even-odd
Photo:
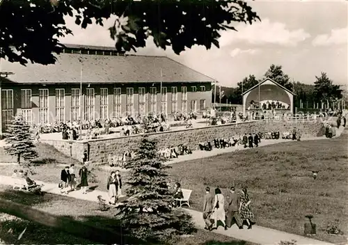
{"type": "Polygon", "coordinates": [[[11,124],[8,125],[4,136],[6,143],[8,143],[5,152],[17,156],[18,164],[21,164],[21,157],[25,161],[31,161],[38,157],[33,143],[33,132],[22,115],[15,116],[11,124]]]}

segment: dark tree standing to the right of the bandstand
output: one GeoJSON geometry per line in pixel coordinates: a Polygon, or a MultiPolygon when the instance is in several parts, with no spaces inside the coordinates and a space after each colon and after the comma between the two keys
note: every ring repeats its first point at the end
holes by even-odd
{"type": "Polygon", "coordinates": [[[317,101],[329,102],[342,98],[342,90],[339,85],[333,84],[333,81],[329,79],[325,72],[322,72],[320,77],[315,77],[317,80],[314,82],[315,90],[314,96],[317,101]]]}

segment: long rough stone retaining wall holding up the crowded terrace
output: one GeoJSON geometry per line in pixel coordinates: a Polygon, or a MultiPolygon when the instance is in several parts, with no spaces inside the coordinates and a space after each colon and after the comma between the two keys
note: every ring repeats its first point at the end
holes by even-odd
{"type": "MultiPolygon", "coordinates": [[[[322,136],[324,133],[320,120],[258,120],[239,124],[217,125],[193,129],[158,132],[149,134],[150,139],[158,141],[159,148],[187,143],[196,150],[201,141],[212,141],[216,138],[230,138],[249,132],[291,132],[296,127],[301,130],[302,137],[322,136]]],[[[42,141],[75,159],[81,160],[84,149],[88,152],[88,160],[103,164],[109,154],[122,155],[125,150],[136,150],[141,135],[124,136],[112,139],[93,139],[88,141],[42,141]]]]}

